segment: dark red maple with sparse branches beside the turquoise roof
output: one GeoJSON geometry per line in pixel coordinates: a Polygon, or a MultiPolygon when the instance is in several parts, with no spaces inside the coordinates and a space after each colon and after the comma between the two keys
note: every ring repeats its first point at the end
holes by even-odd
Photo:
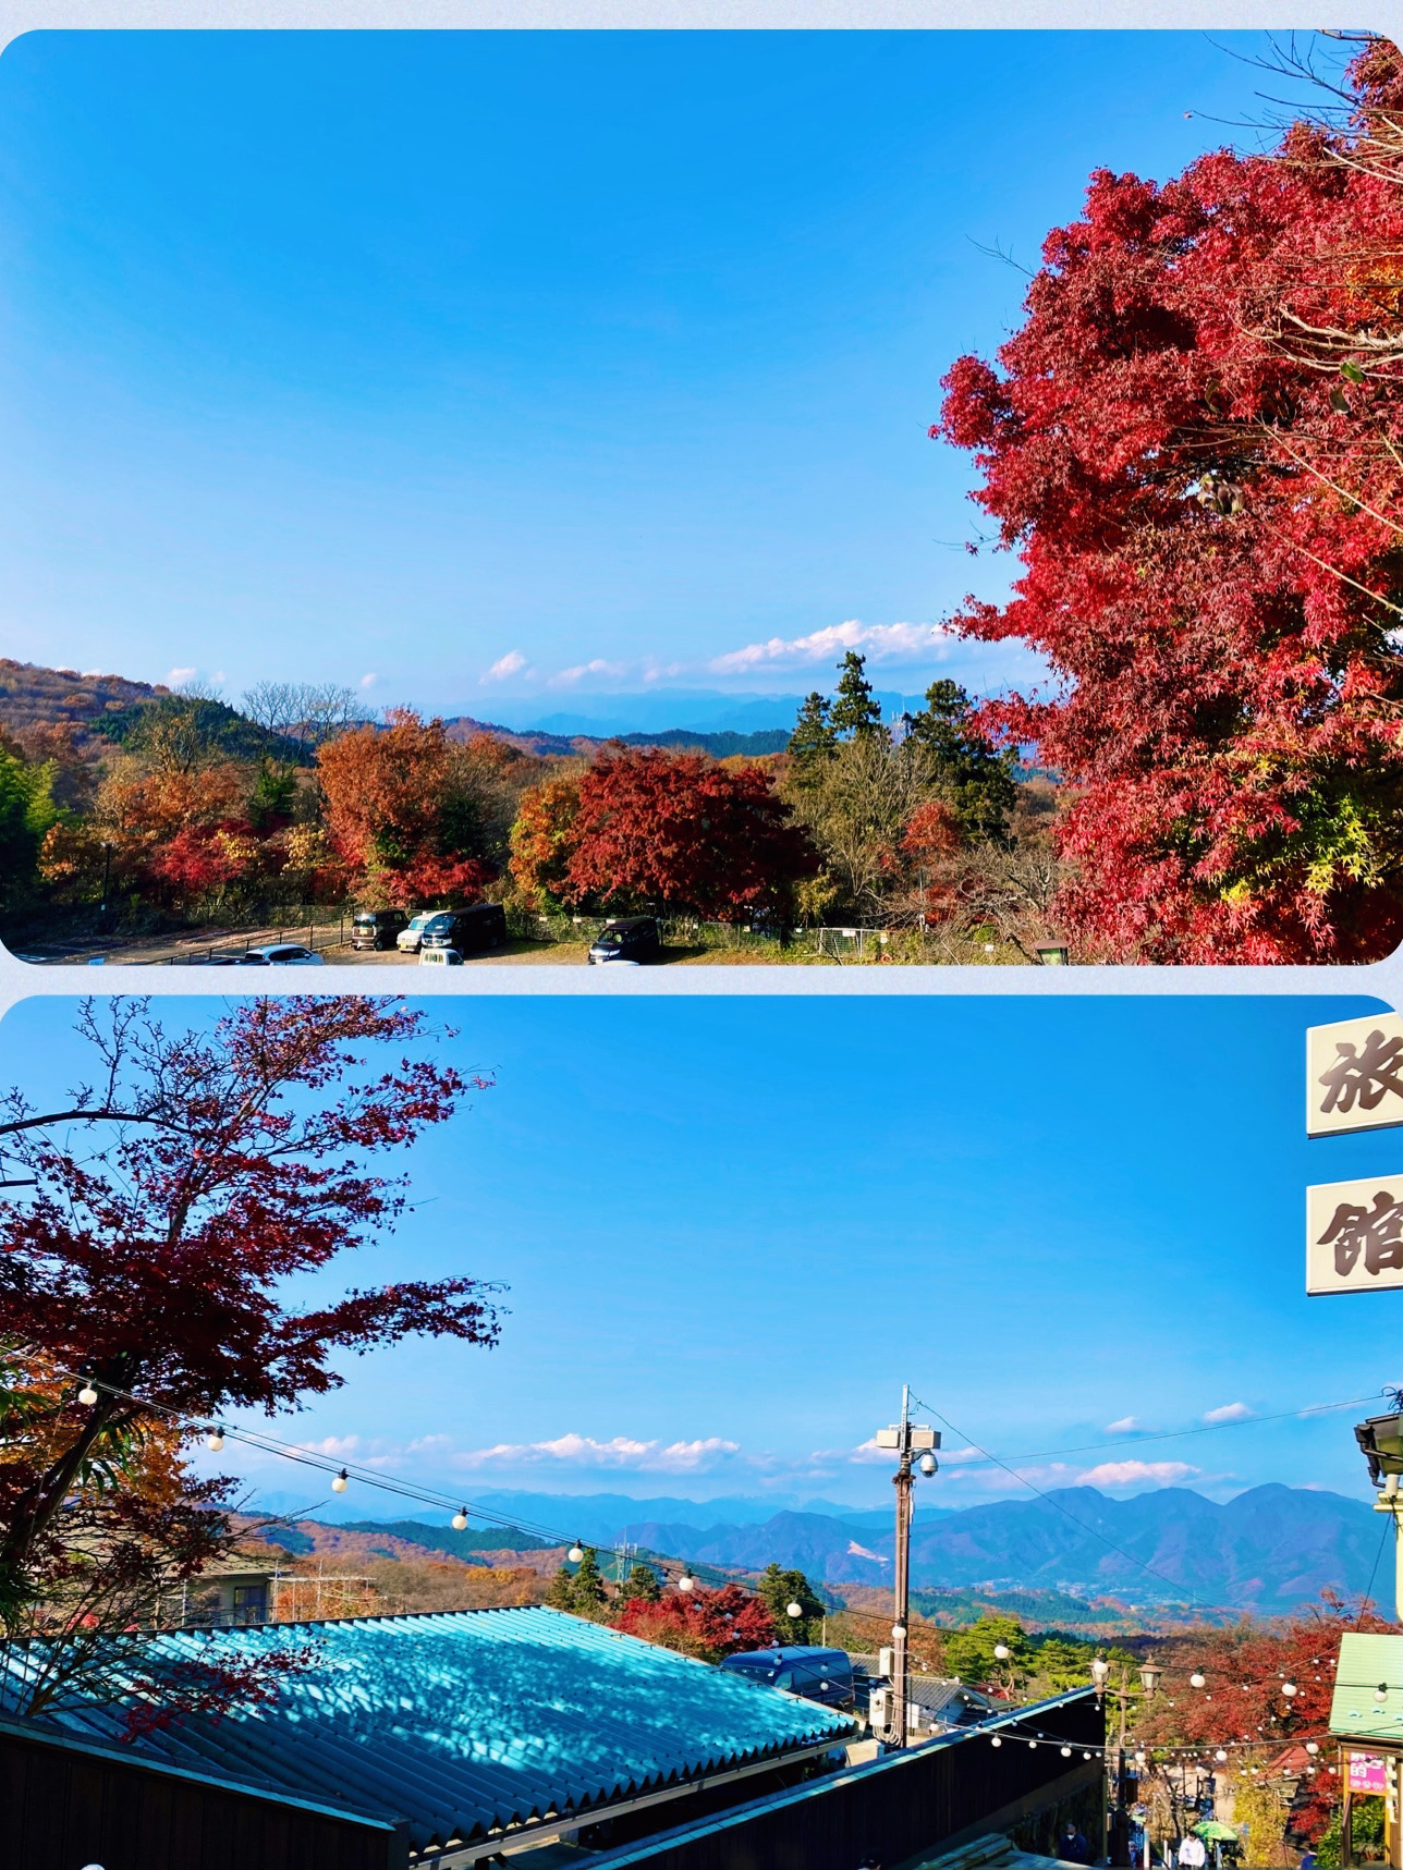
{"type": "Polygon", "coordinates": [[[73,1503],[94,1485],[101,1496],[105,1474],[122,1485],[99,1545],[131,1561],[146,1550],[152,1576],[219,1548],[219,1489],[183,1475],[152,1498],[142,1479],[142,1442],[168,1419],[144,1397],[187,1419],[275,1414],[333,1389],[337,1352],[415,1333],[490,1346],[499,1331],[496,1288],[468,1275],[305,1307],[286,1296],[290,1279],[395,1225],[404,1178],[370,1159],[447,1122],[468,1090],[455,1068],[413,1057],[432,1040],[423,1014],[294,997],[168,1030],[148,1002],[114,1000],[84,1002],[79,1032],[95,1083],[60,1111],[11,1092],[0,1113],[15,1189],[0,1199],[0,1346],[17,1369],[0,1371],[7,1629],[65,1599],[75,1554],[94,1545],[73,1503]],[[389,1058],[370,1062],[376,1051],[389,1058]],[[92,1406],[75,1373],[95,1384],[92,1406]]]}

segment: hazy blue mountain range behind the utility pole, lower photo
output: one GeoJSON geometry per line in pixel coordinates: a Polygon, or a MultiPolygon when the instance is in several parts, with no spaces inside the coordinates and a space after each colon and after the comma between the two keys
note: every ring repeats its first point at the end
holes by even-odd
{"type": "MultiPolygon", "coordinates": [[[[890,1582],[889,1509],[808,1502],[765,1515],[767,1503],[752,1500],[514,1492],[483,1496],[481,1503],[586,1543],[614,1546],[627,1537],[694,1565],[763,1571],[774,1561],[831,1586],[890,1582]],[[816,1511],[819,1505],[825,1511],[816,1511]]],[[[1377,1552],[1371,1505],[1341,1494],[1270,1485],[1220,1503],[1179,1487],[1134,1500],[1070,1487],[1042,1500],[918,1509],[911,1582],[1272,1616],[1324,1588],[1347,1595],[1367,1590],[1377,1552]]]]}

